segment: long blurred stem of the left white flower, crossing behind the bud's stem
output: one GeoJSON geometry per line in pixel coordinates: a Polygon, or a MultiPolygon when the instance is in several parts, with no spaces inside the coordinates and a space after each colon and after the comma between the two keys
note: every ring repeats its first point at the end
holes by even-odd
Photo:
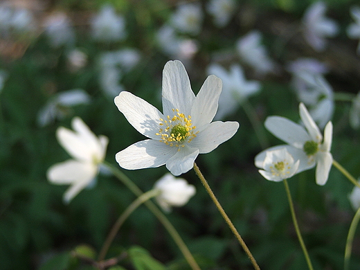
{"type": "MultiPolygon", "coordinates": [[[[134,195],[136,195],[137,197],[143,195],[141,189],[138,188],[138,186],[136,186],[136,184],[132,180],[130,180],[129,177],[123,174],[123,172],[118,170],[118,168],[115,168],[113,165],[107,163],[106,161],[104,161],[103,164],[107,168],[109,168],[109,170],[115,175],[115,177],[118,178],[125,186],[127,186],[127,188],[129,188],[129,190],[131,190],[134,193],[134,195]]],[[[163,226],[168,231],[174,242],[177,244],[177,246],[179,246],[181,253],[183,253],[183,256],[185,257],[188,264],[190,264],[192,270],[200,270],[199,265],[197,264],[194,257],[190,253],[186,244],[181,239],[181,236],[179,235],[177,230],[170,223],[169,219],[165,217],[163,212],[161,212],[161,210],[152,201],[145,201],[144,204],[157,217],[157,219],[159,219],[159,222],[163,224],[163,226]]]]}

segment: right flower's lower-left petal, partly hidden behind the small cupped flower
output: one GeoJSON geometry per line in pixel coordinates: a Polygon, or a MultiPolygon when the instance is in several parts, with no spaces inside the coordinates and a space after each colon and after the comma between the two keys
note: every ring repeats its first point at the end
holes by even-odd
{"type": "Polygon", "coordinates": [[[264,165],[264,160],[267,156],[267,152],[273,151],[273,150],[280,150],[284,147],[286,148],[287,152],[289,152],[289,154],[291,154],[294,161],[300,161],[300,163],[298,165],[298,170],[296,171],[296,174],[299,172],[303,172],[304,170],[309,170],[311,168],[314,168],[314,166],[316,164],[314,159],[309,159],[307,157],[307,155],[305,154],[305,152],[303,152],[303,150],[300,150],[291,145],[276,145],[276,146],[270,147],[270,148],[260,152],[259,154],[257,154],[255,156],[255,166],[260,169],[264,168],[263,165],[264,165]]]}

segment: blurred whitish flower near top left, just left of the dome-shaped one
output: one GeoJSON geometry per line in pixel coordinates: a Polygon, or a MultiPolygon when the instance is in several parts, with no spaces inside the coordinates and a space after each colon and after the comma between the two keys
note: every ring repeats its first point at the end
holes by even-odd
{"type": "Polygon", "coordinates": [[[71,27],[71,21],[64,12],[56,12],[46,18],[44,23],[45,33],[53,47],[73,45],[75,32],[71,27]]]}

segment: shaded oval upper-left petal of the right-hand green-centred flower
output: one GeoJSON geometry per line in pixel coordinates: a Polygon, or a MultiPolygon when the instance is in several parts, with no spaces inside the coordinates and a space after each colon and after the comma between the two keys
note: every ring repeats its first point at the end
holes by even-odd
{"type": "Polygon", "coordinates": [[[264,125],[274,136],[300,149],[311,139],[302,126],[282,116],[269,116],[264,125]]]}

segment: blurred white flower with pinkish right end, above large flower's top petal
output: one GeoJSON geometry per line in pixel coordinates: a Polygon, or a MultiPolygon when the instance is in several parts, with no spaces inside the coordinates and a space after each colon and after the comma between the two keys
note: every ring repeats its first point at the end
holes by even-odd
{"type": "Polygon", "coordinates": [[[156,33],[156,39],[164,53],[179,60],[190,59],[198,51],[194,39],[178,37],[172,26],[161,26],[156,33]]]}

